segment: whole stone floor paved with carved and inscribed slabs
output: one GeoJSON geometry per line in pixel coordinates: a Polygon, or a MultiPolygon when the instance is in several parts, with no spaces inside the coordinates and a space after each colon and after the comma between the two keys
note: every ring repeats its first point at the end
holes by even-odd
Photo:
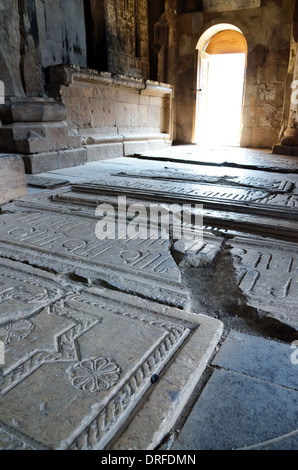
{"type": "Polygon", "coordinates": [[[1,449],[298,449],[295,157],[177,146],[27,184],[0,215],[1,449]],[[98,240],[119,196],[146,226],[187,207],[194,241],[129,213],[98,240]]]}

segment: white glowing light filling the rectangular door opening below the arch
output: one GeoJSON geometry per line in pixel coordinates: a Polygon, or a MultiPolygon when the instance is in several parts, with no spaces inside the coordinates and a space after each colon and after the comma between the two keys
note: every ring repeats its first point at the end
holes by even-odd
{"type": "Polygon", "coordinates": [[[210,56],[204,144],[240,145],[246,54],[210,56]]]}

